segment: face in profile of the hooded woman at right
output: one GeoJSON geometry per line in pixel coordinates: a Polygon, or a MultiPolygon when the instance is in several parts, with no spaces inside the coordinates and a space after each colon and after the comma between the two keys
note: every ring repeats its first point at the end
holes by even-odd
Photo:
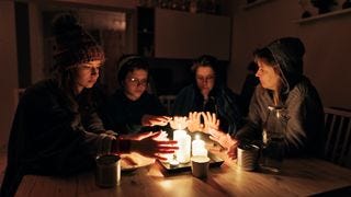
{"type": "Polygon", "coordinates": [[[258,58],[259,66],[256,77],[260,79],[260,83],[264,89],[278,92],[281,86],[281,78],[273,65],[269,65],[265,59],[258,58]]]}

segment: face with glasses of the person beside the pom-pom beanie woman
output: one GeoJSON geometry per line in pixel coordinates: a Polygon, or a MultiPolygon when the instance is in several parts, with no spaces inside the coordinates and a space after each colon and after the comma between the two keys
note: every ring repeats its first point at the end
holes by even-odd
{"type": "Polygon", "coordinates": [[[132,101],[138,100],[146,91],[148,72],[143,69],[128,72],[124,80],[124,94],[132,101]]]}

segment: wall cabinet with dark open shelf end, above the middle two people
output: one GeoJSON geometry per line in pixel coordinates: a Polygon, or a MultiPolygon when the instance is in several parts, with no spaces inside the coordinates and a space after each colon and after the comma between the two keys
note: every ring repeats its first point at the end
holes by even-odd
{"type": "Polygon", "coordinates": [[[229,60],[230,18],[158,8],[151,13],[143,10],[138,13],[141,13],[138,16],[139,54],[180,59],[210,54],[220,60],[229,60]],[[147,14],[154,18],[154,24],[146,20],[147,14]]]}

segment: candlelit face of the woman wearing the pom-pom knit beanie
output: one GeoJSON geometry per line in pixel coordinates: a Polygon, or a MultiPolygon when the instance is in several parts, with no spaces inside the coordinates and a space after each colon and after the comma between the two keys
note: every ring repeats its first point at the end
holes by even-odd
{"type": "Polygon", "coordinates": [[[101,61],[94,60],[77,66],[76,93],[80,93],[84,88],[92,88],[99,78],[101,61]]]}

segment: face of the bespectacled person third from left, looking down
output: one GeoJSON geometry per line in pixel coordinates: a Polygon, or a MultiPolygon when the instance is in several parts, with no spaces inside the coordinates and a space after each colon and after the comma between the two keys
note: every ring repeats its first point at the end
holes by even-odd
{"type": "Polygon", "coordinates": [[[202,95],[207,99],[211,90],[215,85],[215,72],[211,67],[200,66],[195,73],[196,84],[202,95]]]}

